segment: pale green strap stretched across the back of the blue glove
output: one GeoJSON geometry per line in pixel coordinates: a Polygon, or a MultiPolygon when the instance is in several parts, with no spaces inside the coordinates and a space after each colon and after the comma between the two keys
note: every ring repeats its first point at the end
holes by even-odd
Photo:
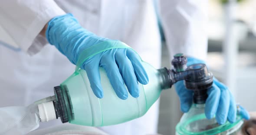
{"type": "Polygon", "coordinates": [[[130,48],[131,49],[130,46],[118,40],[108,40],[96,45],[92,45],[91,47],[82,51],[81,55],[78,58],[75,71],[78,71],[81,65],[84,63],[84,61],[86,61],[88,58],[113,48],[130,48]]]}

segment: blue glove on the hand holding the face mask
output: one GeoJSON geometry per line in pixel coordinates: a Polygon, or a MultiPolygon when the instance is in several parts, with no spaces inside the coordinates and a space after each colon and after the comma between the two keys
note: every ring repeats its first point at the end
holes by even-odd
{"type": "MultiPolygon", "coordinates": [[[[187,58],[187,66],[199,63],[205,64],[204,61],[196,58],[187,58]]],[[[186,89],[184,80],[178,81],[174,86],[180,97],[181,111],[187,113],[193,103],[193,91],[186,89]]],[[[228,87],[214,77],[213,85],[208,89],[207,94],[208,97],[205,103],[207,119],[211,119],[215,115],[219,124],[224,124],[226,120],[231,123],[236,121],[236,102],[228,87]]],[[[249,114],[245,109],[242,108],[240,112],[244,119],[249,119],[249,114]]]]}

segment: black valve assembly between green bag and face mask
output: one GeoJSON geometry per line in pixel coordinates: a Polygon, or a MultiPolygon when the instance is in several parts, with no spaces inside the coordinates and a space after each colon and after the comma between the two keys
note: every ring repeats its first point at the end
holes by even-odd
{"type": "Polygon", "coordinates": [[[207,89],[213,84],[213,74],[205,64],[187,66],[187,57],[181,53],[174,55],[171,61],[173,69],[168,71],[171,85],[184,80],[185,87],[194,91],[194,103],[202,104],[207,99],[207,89]]]}

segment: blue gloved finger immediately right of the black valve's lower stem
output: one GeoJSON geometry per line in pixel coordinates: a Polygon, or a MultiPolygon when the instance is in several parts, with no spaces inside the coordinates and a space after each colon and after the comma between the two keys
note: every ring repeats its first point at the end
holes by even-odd
{"type": "Polygon", "coordinates": [[[220,101],[220,88],[213,83],[212,87],[207,90],[207,100],[205,102],[205,116],[212,119],[217,112],[220,101]]]}

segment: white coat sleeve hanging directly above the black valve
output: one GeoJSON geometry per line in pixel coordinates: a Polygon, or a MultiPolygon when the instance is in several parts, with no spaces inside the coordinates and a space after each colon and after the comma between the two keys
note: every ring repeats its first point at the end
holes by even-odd
{"type": "Polygon", "coordinates": [[[207,0],[159,0],[170,55],[207,57],[207,0]]]}

